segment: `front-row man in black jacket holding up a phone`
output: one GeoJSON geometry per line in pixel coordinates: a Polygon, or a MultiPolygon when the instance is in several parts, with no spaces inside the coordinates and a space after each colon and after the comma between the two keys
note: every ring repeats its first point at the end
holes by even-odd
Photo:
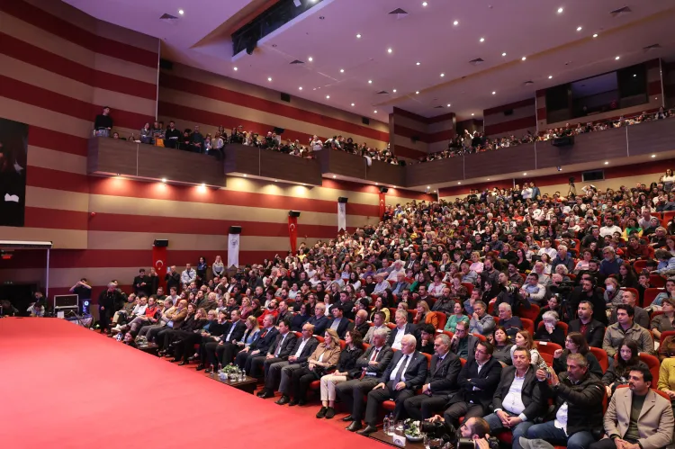
{"type": "Polygon", "coordinates": [[[605,387],[589,373],[586,357],[567,356],[567,371],[536,370],[543,400],[554,400],[554,419],[527,429],[527,438],[544,439],[569,449],[588,449],[595,443],[594,429],[602,426],[602,399],[605,387]]]}

